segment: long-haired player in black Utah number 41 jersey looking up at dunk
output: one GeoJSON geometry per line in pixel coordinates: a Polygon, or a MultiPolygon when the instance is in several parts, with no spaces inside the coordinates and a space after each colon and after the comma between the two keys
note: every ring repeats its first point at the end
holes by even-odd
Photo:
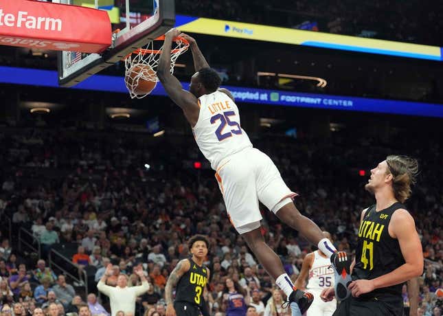
{"type": "MultiPolygon", "coordinates": [[[[403,202],[411,194],[417,161],[388,156],[371,170],[365,189],[376,204],[363,210],[349,290],[334,315],[403,315],[402,283],[421,275],[423,252],[416,225],[403,202]]],[[[331,300],[334,289],[321,293],[331,300]]]]}

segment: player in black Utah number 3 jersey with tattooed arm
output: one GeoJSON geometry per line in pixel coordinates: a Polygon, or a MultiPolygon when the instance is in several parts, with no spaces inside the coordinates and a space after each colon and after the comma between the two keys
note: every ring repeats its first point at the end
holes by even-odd
{"type": "Polygon", "coordinates": [[[209,269],[203,261],[207,255],[209,242],[202,235],[195,235],[188,242],[192,257],[177,263],[165,287],[166,316],[209,316],[203,291],[209,280],[209,269]],[[172,302],[172,289],[177,285],[175,300],[172,302]]]}

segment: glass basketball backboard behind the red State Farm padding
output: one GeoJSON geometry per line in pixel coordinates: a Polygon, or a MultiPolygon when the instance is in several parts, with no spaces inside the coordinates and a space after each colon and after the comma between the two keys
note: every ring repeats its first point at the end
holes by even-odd
{"type": "MultiPolygon", "coordinates": [[[[72,87],[114,65],[174,26],[174,0],[59,0],[60,3],[107,10],[113,41],[100,54],[58,52],[58,83],[72,87]],[[128,16],[128,18],[127,18],[128,16]],[[117,32],[117,30],[120,30],[117,32]]],[[[79,17],[81,23],[81,17],[79,17]]],[[[91,25],[93,27],[93,25],[91,25]]]]}

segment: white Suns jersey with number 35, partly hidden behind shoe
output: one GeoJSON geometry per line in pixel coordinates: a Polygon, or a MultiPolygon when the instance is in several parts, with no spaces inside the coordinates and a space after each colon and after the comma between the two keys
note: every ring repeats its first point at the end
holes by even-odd
{"type": "Polygon", "coordinates": [[[314,251],[313,266],[309,270],[308,286],[312,292],[321,293],[323,289],[334,286],[334,270],[329,258],[320,256],[319,251],[314,251]]]}

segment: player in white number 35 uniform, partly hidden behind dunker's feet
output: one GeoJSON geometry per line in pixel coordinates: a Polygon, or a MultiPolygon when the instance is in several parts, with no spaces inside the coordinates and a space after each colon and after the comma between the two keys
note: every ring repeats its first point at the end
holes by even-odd
{"type": "MultiPolygon", "coordinates": [[[[323,232],[323,235],[331,240],[328,232],[323,232]]],[[[306,316],[330,316],[334,313],[335,308],[337,308],[336,300],[330,302],[318,300],[321,291],[334,284],[333,277],[334,270],[330,267],[330,260],[320,250],[308,253],[306,257],[304,257],[302,270],[300,270],[300,274],[295,281],[295,286],[297,289],[304,289],[304,282],[308,279],[306,289],[308,289],[310,293],[313,293],[314,297],[317,297],[317,300],[314,300],[306,312],[306,316]]],[[[294,311],[293,315],[295,315],[294,311]]]]}

